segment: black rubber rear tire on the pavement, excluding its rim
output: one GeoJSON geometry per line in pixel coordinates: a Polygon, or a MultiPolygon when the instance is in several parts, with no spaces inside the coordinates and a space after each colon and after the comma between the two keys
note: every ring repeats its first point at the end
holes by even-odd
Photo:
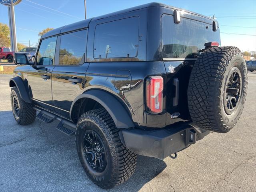
{"type": "Polygon", "coordinates": [[[104,189],[125,182],[136,168],[137,155],[122,144],[118,132],[111,116],[103,108],[82,114],[77,122],[76,149],[79,160],[89,178],[104,189]],[[106,148],[107,163],[102,172],[96,172],[85,158],[83,144],[86,130],[97,132],[106,148]]]}

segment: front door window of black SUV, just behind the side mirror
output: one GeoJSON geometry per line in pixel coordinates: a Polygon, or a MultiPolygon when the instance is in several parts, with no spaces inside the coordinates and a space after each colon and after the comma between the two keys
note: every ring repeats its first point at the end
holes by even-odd
{"type": "Polygon", "coordinates": [[[57,37],[42,40],[36,58],[36,63],[38,65],[54,64],[56,41],[57,37]]]}

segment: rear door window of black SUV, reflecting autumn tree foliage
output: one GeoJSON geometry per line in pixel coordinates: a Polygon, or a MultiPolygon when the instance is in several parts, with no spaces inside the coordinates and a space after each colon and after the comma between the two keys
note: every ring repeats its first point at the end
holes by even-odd
{"type": "Polygon", "coordinates": [[[78,65],[84,63],[87,30],[61,36],[60,65],[78,65]]]}

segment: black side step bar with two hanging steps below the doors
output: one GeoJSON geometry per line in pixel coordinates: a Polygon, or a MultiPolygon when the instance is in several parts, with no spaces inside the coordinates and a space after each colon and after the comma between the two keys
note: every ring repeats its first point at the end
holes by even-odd
{"type": "Polygon", "coordinates": [[[36,118],[41,120],[44,123],[50,123],[54,120],[59,120],[59,124],[57,125],[56,129],[61,131],[62,133],[72,136],[76,132],[76,124],[73,122],[70,122],[68,120],[65,120],[64,118],[61,118],[57,116],[56,114],[53,114],[51,112],[48,112],[46,110],[42,110],[40,108],[34,107],[34,110],[38,111],[38,114],[36,115],[36,118]]]}

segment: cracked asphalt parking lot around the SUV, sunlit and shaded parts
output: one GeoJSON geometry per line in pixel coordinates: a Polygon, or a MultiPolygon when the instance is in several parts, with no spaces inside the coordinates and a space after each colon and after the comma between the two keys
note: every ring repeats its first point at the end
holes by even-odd
{"type": "MultiPolygon", "coordinates": [[[[256,73],[249,72],[245,108],[226,134],[211,133],[164,161],[138,156],[135,174],[109,191],[256,191],[256,73]]],[[[10,105],[11,75],[0,75],[0,191],[104,191],[86,176],[74,136],[58,122],[16,124],[10,105]]]]}

